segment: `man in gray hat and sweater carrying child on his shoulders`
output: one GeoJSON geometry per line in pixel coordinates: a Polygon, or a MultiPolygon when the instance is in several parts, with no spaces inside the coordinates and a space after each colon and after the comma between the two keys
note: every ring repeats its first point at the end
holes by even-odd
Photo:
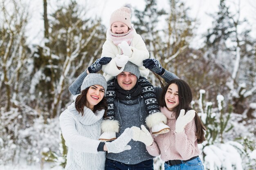
{"type": "MultiPolygon", "coordinates": [[[[79,94],[79,88],[85,76],[90,73],[98,72],[101,66],[107,64],[110,60],[111,58],[109,57],[97,59],[92,66],[88,67],[87,71],[84,71],[73,82],[69,87],[70,92],[73,95],[79,94]]],[[[161,64],[155,59],[146,59],[143,62],[146,68],[159,74],[166,82],[178,78],[175,74],[164,70],[161,64]]],[[[128,127],[140,127],[142,124],[145,125],[148,112],[144,99],[141,97],[142,91],[141,86],[138,85],[138,79],[139,68],[131,62],[127,62],[123,72],[114,79],[113,89],[116,96],[114,102],[115,120],[120,124],[117,137],[128,127]]],[[[160,88],[154,88],[156,95],[159,96],[161,93],[160,88]]],[[[121,153],[106,154],[105,170],[153,170],[153,156],[148,154],[146,146],[134,140],[130,141],[128,145],[131,146],[131,150],[126,150],[121,153]]],[[[102,149],[98,148],[98,150],[102,149]]]]}

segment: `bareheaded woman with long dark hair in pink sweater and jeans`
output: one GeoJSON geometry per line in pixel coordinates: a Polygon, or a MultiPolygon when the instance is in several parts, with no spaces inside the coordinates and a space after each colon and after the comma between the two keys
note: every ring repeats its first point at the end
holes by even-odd
{"type": "Polygon", "coordinates": [[[141,141],[144,138],[142,142],[146,144],[148,153],[161,155],[165,161],[165,170],[204,170],[198,157],[198,143],[205,141],[206,128],[195,110],[191,110],[191,101],[189,85],[181,79],[173,79],[164,86],[159,102],[161,112],[167,117],[170,132],[152,137],[143,125],[141,130],[132,127],[132,139],[141,141]]]}

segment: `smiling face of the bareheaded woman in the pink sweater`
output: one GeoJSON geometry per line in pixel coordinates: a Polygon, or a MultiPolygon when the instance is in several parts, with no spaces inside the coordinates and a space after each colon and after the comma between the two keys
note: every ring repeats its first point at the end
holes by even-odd
{"type": "Polygon", "coordinates": [[[168,89],[165,93],[164,100],[166,103],[166,107],[170,111],[173,111],[173,109],[180,104],[179,90],[178,90],[178,86],[176,84],[172,83],[172,84],[170,84],[170,86],[168,86],[168,89]]]}

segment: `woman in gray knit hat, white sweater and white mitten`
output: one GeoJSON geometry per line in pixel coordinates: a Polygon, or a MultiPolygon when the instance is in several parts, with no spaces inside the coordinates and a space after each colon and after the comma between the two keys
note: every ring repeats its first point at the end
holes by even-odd
{"type": "Polygon", "coordinates": [[[101,121],[107,109],[106,79],[96,73],[85,77],[81,94],[60,115],[63,137],[68,146],[65,170],[104,170],[106,152],[119,153],[129,150],[132,130],[127,128],[118,139],[104,143],[99,141],[101,121]]]}

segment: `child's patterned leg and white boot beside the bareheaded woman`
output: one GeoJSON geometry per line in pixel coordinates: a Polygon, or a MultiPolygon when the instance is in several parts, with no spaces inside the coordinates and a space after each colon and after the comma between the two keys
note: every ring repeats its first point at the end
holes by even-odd
{"type": "Polygon", "coordinates": [[[170,128],[166,125],[167,118],[159,111],[153,85],[144,77],[140,77],[138,82],[142,87],[142,96],[148,110],[148,117],[146,118],[147,126],[152,129],[153,135],[169,132],[170,128]]]}

